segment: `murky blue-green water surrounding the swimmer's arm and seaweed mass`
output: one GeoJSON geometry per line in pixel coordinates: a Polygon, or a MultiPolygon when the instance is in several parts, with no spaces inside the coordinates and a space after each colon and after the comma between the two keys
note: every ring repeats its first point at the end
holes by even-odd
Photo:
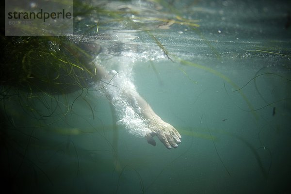
{"type": "MultiPolygon", "coordinates": [[[[139,3],[108,7],[125,4],[140,11],[152,5],[139,3]]],[[[7,129],[1,132],[1,184],[15,193],[291,192],[291,4],[160,5],[162,10],[141,15],[198,19],[200,27],[109,22],[84,42],[101,48],[95,63],[126,74],[153,110],[178,129],[178,148],[166,149],[157,137],[151,146],[132,135],[133,119],[116,125],[122,111],[113,111],[95,83],[67,95],[8,97],[1,90],[1,124],[7,129]]],[[[84,20],[89,17],[94,18],[84,20]]],[[[86,31],[82,25],[79,36],[86,31]]]]}

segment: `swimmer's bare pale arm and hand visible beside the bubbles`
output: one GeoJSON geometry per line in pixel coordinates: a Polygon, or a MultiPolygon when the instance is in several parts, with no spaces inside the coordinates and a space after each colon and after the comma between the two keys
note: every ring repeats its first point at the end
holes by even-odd
{"type": "MultiPolygon", "coordinates": [[[[96,65],[96,75],[98,80],[102,81],[109,81],[112,78],[112,76],[99,65],[96,65]]],[[[152,110],[146,100],[136,91],[126,90],[123,92],[125,94],[124,97],[128,98],[129,101],[132,100],[135,102],[132,106],[138,106],[140,110],[139,113],[148,121],[148,129],[150,129],[150,132],[145,135],[147,143],[156,146],[153,137],[157,136],[166,148],[177,148],[178,144],[181,143],[181,135],[177,129],[163,121],[162,118],[152,110]]]]}

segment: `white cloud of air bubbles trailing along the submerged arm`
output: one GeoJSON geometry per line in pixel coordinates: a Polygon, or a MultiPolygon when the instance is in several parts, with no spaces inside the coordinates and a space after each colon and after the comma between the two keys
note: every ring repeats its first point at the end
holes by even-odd
{"type": "MultiPolygon", "coordinates": [[[[148,53],[147,53],[148,54],[148,53]]],[[[146,55],[146,53],[142,53],[146,55]]],[[[136,91],[133,84],[133,66],[136,61],[142,60],[141,54],[124,53],[123,56],[113,57],[111,60],[98,61],[97,64],[102,64],[109,74],[109,79],[106,81],[98,81],[94,87],[97,90],[97,95],[106,97],[113,104],[117,113],[116,124],[123,126],[132,135],[144,137],[148,129],[148,121],[141,116],[140,107],[134,98],[128,97],[130,91],[136,91]],[[102,88],[101,90],[99,90],[102,88]]],[[[144,58],[144,57],[143,57],[144,58]]]]}

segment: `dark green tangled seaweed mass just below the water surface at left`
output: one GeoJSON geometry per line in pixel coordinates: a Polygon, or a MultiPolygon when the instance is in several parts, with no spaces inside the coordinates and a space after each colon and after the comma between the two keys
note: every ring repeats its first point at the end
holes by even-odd
{"type": "Polygon", "coordinates": [[[21,90],[70,93],[93,81],[93,56],[67,37],[2,37],[1,84],[21,90]],[[4,47],[5,46],[5,47],[4,47]]]}

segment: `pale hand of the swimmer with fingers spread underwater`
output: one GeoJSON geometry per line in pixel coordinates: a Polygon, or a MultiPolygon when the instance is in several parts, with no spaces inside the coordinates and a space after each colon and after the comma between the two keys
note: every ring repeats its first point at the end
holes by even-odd
{"type": "Polygon", "coordinates": [[[151,132],[146,134],[147,143],[156,146],[156,142],[153,139],[154,136],[158,136],[159,140],[166,146],[166,148],[171,149],[172,147],[177,148],[179,143],[181,143],[181,135],[172,125],[164,122],[161,118],[154,119],[150,127],[151,132]]]}

